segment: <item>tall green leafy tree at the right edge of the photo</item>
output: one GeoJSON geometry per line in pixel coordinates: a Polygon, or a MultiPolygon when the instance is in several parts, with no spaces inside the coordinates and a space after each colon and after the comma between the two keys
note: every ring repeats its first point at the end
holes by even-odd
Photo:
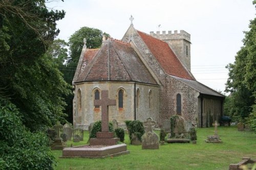
{"type": "MultiPolygon", "coordinates": [[[[256,1],[253,1],[253,5],[256,1]]],[[[244,46],[237,53],[233,64],[229,63],[229,78],[226,83],[226,92],[231,93],[233,114],[239,115],[242,122],[255,107],[256,96],[256,18],[250,21],[250,30],[245,33],[244,46]]],[[[251,116],[255,122],[255,116],[251,116]]]]}

